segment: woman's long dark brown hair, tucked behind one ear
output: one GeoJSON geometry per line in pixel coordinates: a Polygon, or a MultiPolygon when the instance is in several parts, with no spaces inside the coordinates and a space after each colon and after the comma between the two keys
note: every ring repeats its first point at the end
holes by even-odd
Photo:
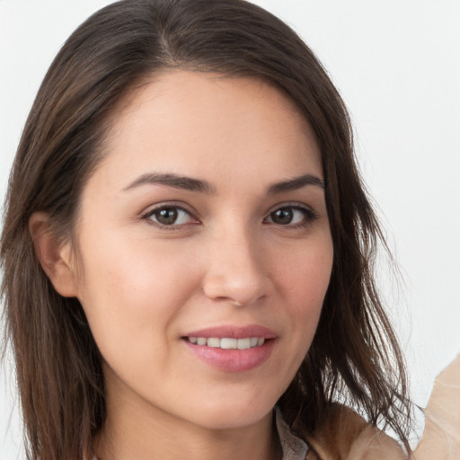
{"type": "Polygon", "coordinates": [[[269,80],[304,113],[321,148],[332,278],[314,342],[279,399],[288,424],[312,434],[339,399],[394,429],[407,446],[403,358],[373,276],[382,233],[358,174],[349,115],[323,66],[285,23],[242,0],[122,0],[93,14],[58,53],[10,177],[2,294],[28,457],[91,456],[106,415],[102,357],[82,306],[59,296],[41,269],[29,219],[47,212],[53,234],[72,238],[118,102],[171,68],[269,80]]]}

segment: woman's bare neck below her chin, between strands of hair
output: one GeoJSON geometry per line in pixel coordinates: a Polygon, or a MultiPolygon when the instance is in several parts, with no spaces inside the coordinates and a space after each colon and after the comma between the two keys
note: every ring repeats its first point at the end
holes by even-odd
{"type": "Polygon", "coordinates": [[[271,411],[250,426],[201,427],[189,420],[125,398],[116,404],[107,393],[107,420],[94,439],[99,460],[278,460],[278,435],[271,411]]]}

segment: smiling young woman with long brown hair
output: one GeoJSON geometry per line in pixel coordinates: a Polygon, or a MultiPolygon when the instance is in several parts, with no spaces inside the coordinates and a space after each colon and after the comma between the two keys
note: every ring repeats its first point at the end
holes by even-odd
{"type": "Polygon", "coordinates": [[[30,458],[403,457],[376,429],[409,450],[380,238],[347,111],[284,23],[233,0],[95,13],[7,197],[30,458]]]}

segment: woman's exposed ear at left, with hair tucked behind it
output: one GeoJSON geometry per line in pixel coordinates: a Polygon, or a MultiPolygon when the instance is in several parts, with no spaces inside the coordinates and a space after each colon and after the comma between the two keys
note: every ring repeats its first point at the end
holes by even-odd
{"type": "Polygon", "coordinates": [[[49,229],[49,215],[34,212],[29,219],[29,231],[42,269],[61,296],[76,296],[75,264],[70,243],[58,243],[49,229]]]}

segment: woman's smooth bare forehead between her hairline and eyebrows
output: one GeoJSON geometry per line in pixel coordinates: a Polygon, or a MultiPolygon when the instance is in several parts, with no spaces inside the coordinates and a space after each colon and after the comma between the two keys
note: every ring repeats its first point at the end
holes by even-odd
{"type": "Polygon", "coordinates": [[[101,165],[112,179],[128,181],[150,170],[193,177],[237,173],[248,180],[256,174],[261,181],[322,175],[305,117],[261,79],[166,72],[130,93],[121,107],[111,119],[101,165]]]}

